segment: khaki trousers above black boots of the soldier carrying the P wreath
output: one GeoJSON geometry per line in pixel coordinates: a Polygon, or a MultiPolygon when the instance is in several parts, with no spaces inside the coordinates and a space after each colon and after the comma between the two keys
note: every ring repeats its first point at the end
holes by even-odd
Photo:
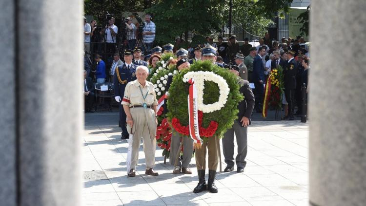
{"type": "Polygon", "coordinates": [[[201,149],[195,150],[197,170],[206,169],[206,151],[208,150],[208,169],[215,170],[219,165],[218,147],[220,147],[219,137],[209,137],[207,141],[203,141],[201,149]]]}

